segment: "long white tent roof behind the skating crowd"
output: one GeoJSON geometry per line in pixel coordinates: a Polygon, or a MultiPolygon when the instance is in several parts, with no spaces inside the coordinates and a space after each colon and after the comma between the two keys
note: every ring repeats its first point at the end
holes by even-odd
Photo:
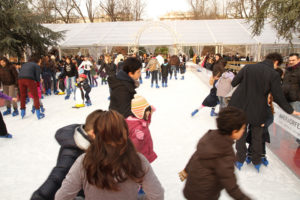
{"type": "MultiPolygon", "coordinates": [[[[61,47],[157,46],[174,45],[251,45],[288,44],[279,39],[270,24],[260,36],[251,36],[250,24],[243,19],[102,22],[44,24],[53,31],[65,31],[61,47]]],[[[300,39],[293,40],[300,44],[300,39]]]]}

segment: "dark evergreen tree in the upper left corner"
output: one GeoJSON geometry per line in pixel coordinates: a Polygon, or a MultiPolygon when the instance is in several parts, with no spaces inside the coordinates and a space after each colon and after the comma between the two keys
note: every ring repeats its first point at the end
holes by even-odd
{"type": "Polygon", "coordinates": [[[22,57],[25,48],[42,55],[62,37],[41,25],[42,17],[32,13],[26,0],[0,1],[0,54],[22,57]]]}

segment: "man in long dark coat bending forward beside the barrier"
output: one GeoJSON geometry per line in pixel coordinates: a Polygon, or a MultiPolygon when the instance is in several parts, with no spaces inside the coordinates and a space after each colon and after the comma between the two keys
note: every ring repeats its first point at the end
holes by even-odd
{"type": "MultiPolygon", "coordinates": [[[[233,87],[239,85],[233,93],[229,106],[240,108],[246,112],[247,123],[252,127],[252,163],[259,171],[261,166],[263,124],[267,120],[268,94],[271,93],[274,101],[287,113],[299,115],[288,104],[280,85],[279,74],[274,67],[282,63],[282,56],[271,53],[263,62],[246,65],[239,71],[231,82],[233,87]]],[[[236,166],[241,169],[246,159],[246,137],[236,143],[236,166]]]]}

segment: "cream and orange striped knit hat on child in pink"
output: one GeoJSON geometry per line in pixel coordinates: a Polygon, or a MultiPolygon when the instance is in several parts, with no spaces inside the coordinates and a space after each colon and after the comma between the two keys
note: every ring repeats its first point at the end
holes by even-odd
{"type": "Polygon", "coordinates": [[[131,112],[139,119],[144,118],[145,110],[149,106],[147,100],[142,96],[134,95],[134,98],[131,100],[131,112]]]}

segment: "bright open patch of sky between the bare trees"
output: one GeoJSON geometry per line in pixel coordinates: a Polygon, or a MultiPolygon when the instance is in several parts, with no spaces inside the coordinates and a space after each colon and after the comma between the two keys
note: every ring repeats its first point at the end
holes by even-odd
{"type": "Polygon", "coordinates": [[[160,16],[171,11],[188,11],[187,0],[145,0],[145,19],[159,19],[160,16]]]}

